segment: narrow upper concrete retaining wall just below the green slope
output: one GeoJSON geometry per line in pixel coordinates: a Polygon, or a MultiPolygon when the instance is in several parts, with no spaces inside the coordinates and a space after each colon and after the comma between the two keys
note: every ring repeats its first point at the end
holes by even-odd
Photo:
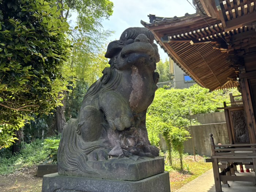
{"type": "Polygon", "coordinates": [[[197,119],[201,124],[226,123],[224,112],[191,115],[191,119],[197,119]]]}

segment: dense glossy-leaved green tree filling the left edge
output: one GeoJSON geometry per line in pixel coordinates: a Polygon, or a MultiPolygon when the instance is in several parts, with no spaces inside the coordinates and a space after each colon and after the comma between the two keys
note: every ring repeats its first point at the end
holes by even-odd
{"type": "Polygon", "coordinates": [[[1,147],[11,145],[31,113],[61,105],[71,52],[61,11],[57,0],[0,0],[0,138],[9,138],[1,147]]]}

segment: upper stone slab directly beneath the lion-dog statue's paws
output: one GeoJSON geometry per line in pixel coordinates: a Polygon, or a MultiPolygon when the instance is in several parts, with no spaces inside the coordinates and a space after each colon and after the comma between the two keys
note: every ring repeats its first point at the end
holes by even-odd
{"type": "Polygon", "coordinates": [[[143,159],[139,156],[125,157],[122,159],[113,158],[108,161],[87,161],[87,165],[90,166],[94,172],[100,172],[100,174],[88,174],[79,170],[75,172],[62,172],[62,170],[59,170],[59,174],[138,181],[165,171],[164,159],[162,157],[143,157],[143,159]]]}

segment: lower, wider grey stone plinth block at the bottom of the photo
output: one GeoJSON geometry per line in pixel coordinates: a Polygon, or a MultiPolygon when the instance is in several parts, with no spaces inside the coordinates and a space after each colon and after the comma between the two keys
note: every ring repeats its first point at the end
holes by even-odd
{"type": "Polygon", "coordinates": [[[120,181],[87,177],[43,177],[42,192],[170,192],[169,173],[163,172],[139,181],[120,181]]]}

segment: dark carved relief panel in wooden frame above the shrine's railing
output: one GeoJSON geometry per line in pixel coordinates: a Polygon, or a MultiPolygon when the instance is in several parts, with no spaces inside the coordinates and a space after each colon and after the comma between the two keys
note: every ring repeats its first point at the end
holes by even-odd
{"type": "Polygon", "coordinates": [[[231,119],[234,128],[234,140],[236,143],[250,142],[248,128],[245,123],[244,110],[231,111],[231,119]]]}

